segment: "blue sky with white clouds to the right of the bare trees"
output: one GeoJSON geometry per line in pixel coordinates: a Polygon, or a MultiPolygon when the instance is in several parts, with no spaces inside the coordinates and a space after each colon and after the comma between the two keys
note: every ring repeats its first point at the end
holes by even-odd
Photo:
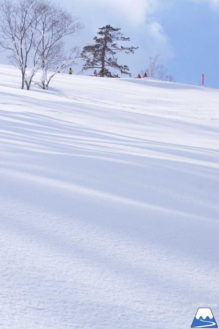
{"type": "MultiPolygon", "coordinates": [[[[132,77],[160,53],[176,82],[201,85],[204,73],[204,86],[219,89],[219,0],[63,0],[61,6],[85,25],[77,38],[68,38],[69,48],[93,44],[98,28],[110,24],[130,37],[127,45],[139,47],[118,56],[132,77]]],[[[0,56],[7,63],[4,53],[0,56]]],[[[80,67],[73,69],[77,73],[80,67]]]]}

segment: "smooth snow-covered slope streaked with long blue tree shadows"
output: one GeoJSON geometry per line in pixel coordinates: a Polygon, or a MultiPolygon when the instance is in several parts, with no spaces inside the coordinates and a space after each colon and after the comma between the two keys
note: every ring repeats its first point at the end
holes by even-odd
{"type": "Polygon", "coordinates": [[[218,305],[219,90],[0,68],[0,326],[190,328],[218,305]]]}

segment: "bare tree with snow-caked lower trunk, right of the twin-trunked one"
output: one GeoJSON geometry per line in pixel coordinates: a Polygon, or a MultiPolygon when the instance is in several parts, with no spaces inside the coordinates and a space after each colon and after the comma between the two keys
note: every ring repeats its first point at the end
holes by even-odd
{"type": "MultiPolygon", "coordinates": [[[[43,69],[42,77],[47,77],[46,80],[41,79],[42,88],[47,89],[51,78],[62,68],[66,62],[73,63],[79,55],[79,48],[74,47],[70,50],[69,56],[65,55],[63,37],[78,36],[83,25],[77,21],[77,16],[72,16],[66,10],[63,10],[56,4],[49,1],[44,2],[43,8],[40,10],[40,19],[37,26],[37,32],[41,34],[38,39],[35,49],[40,58],[40,66],[43,69]],[[73,54],[76,53],[75,56],[73,54]],[[72,60],[72,61],[71,61],[72,60]],[[51,69],[57,69],[52,74],[47,72],[51,69]],[[46,83],[44,83],[44,81],[46,83]]],[[[42,78],[41,77],[41,78],[42,78]]]]}

